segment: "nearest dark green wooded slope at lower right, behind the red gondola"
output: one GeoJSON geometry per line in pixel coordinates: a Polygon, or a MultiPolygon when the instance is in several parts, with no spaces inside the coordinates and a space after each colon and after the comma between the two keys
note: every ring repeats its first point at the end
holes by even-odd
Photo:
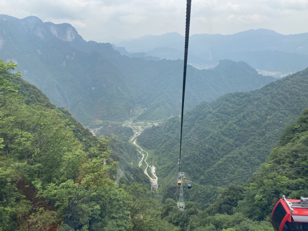
{"type": "MultiPolygon", "coordinates": [[[[283,129],[277,147],[270,152],[256,173],[307,166],[307,132],[306,108],[293,123],[283,129]]],[[[163,221],[179,225],[185,231],[272,231],[270,217],[274,205],[282,195],[290,199],[306,196],[307,177],[308,168],[253,176],[244,185],[229,184],[220,188],[215,202],[205,210],[200,209],[199,203],[186,199],[185,210],[179,212],[176,202],[167,199],[161,216],[163,221]]],[[[200,187],[195,185],[193,183],[193,189],[188,190],[186,195],[199,196],[200,187]]],[[[205,187],[212,186],[208,183],[205,187]]]]}

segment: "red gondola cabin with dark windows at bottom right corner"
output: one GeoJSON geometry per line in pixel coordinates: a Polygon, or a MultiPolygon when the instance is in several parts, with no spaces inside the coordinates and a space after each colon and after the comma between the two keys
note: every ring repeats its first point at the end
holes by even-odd
{"type": "Polygon", "coordinates": [[[272,224],[275,231],[308,230],[308,198],[286,200],[283,196],[273,209],[272,224]]]}

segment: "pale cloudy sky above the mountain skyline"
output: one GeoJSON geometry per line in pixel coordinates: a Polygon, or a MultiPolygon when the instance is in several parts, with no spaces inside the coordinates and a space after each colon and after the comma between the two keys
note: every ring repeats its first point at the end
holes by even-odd
{"type": "MultiPolygon", "coordinates": [[[[185,32],[186,0],[0,0],[0,14],[72,24],[85,40],[185,32]]],[[[190,34],[266,28],[308,32],[308,0],[192,0],[190,34]]]]}

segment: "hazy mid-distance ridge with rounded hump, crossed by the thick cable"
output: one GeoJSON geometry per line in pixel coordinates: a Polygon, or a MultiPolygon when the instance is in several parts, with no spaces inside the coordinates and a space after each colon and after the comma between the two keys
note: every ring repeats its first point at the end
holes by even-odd
{"type": "MultiPolygon", "coordinates": [[[[127,59],[120,65],[139,103],[147,108],[139,119],[164,119],[180,114],[183,86],[181,60],[136,62],[127,59]]],[[[244,62],[221,60],[213,70],[197,70],[188,66],[185,110],[202,100],[212,101],[228,92],[250,91],[274,80],[273,77],[259,75],[244,62]]]]}

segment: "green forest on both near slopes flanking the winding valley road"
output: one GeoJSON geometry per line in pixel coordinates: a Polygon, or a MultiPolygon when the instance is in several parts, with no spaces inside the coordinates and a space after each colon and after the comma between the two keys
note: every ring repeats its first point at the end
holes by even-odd
{"type": "MultiPolygon", "coordinates": [[[[38,88],[20,79],[20,72],[10,74],[16,67],[0,60],[0,230],[270,231],[276,201],[282,195],[298,199],[308,193],[307,169],[253,176],[233,184],[193,182],[193,189],[184,192],[185,210],[180,212],[173,186],[177,153],[170,151],[172,145],[178,148],[178,117],[138,137],[154,149],[151,161],[157,163],[162,193],[154,196],[143,185],[145,175],[129,162],[137,160],[136,149],[123,142],[131,136],[130,128],[105,125],[101,130],[115,138],[97,139],[66,109],[55,107],[38,88]],[[158,139],[168,142],[159,144],[158,139]]],[[[242,175],[234,170],[238,167],[247,174],[257,170],[261,158],[267,156],[259,172],[306,166],[307,78],[308,69],[260,90],[202,102],[185,113],[185,118],[197,120],[184,123],[189,136],[184,138],[181,164],[187,178],[202,181],[242,175]],[[204,122],[209,119],[210,125],[204,122]],[[208,146],[201,146],[204,142],[208,146]],[[201,147],[196,158],[198,152],[188,154],[188,148],[194,148],[188,144],[201,147]],[[207,155],[201,155],[202,148],[207,155]],[[240,154],[243,150],[246,155],[240,154]],[[213,168],[217,164],[214,154],[218,158],[220,153],[225,160],[218,160],[221,165],[213,168]],[[250,170],[241,165],[243,161],[250,170]]]]}

